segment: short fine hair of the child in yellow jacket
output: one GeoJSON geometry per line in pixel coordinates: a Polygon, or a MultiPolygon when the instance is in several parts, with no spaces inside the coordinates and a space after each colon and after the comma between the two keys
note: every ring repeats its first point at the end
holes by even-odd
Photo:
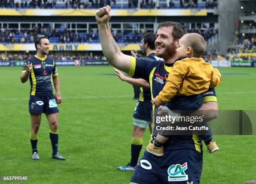
{"type": "Polygon", "coordinates": [[[194,57],[201,57],[205,53],[205,39],[198,33],[187,33],[186,45],[191,46],[194,57]]]}

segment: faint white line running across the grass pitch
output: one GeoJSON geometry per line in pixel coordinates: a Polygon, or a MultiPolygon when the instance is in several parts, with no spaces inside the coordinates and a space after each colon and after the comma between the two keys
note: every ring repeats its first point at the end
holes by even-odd
{"type": "MultiPolygon", "coordinates": [[[[234,95],[234,94],[255,94],[255,92],[217,92],[218,95],[234,95]]],[[[62,99],[90,99],[90,98],[126,98],[132,95],[111,95],[111,96],[82,96],[82,97],[63,97],[62,99]]],[[[0,101],[29,100],[29,98],[0,98],[0,101]]]]}

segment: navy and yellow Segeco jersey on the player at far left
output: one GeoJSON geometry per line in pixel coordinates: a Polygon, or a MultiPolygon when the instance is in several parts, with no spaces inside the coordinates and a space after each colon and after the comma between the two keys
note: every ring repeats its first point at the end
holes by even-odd
{"type": "MultiPolygon", "coordinates": [[[[44,58],[33,56],[28,61],[31,64],[29,80],[31,85],[30,95],[47,96],[52,95],[54,86],[52,77],[58,75],[54,59],[45,56],[44,58]]],[[[25,63],[22,72],[26,72],[25,63]]]]}

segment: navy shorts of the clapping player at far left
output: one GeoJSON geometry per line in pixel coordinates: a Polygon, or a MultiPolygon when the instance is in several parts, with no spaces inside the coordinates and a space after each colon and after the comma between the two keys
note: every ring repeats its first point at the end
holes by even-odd
{"type": "Polygon", "coordinates": [[[59,112],[54,95],[30,96],[28,102],[29,112],[52,114],[59,112]]]}

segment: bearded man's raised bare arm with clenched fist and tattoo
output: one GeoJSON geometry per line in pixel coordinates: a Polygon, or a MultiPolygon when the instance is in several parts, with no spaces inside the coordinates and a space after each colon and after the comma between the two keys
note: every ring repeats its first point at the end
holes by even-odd
{"type": "Polygon", "coordinates": [[[130,71],[131,56],[125,55],[120,51],[112,36],[108,23],[111,17],[110,6],[107,5],[106,7],[100,8],[95,17],[104,56],[112,66],[128,74],[130,71]]]}

